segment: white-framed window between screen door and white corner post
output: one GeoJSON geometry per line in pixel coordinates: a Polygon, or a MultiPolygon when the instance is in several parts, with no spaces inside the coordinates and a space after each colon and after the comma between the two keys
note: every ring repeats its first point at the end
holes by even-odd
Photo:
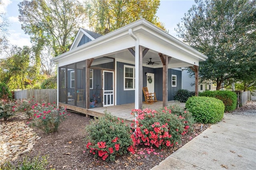
{"type": "Polygon", "coordinates": [[[135,67],[124,65],[124,90],[135,89],[135,67]]]}

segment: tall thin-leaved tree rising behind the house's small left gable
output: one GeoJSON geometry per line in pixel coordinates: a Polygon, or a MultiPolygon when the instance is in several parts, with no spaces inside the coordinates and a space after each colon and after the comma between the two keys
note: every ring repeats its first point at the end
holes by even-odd
{"type": "Polygon", "coordinates": [[[46,60],[68,51],[84,21],[84,8],[73,0],[24,0],[18,6],[22,30],[30,35],[41,64],[38,67],[49,75],[54,69],[46,60]]]}

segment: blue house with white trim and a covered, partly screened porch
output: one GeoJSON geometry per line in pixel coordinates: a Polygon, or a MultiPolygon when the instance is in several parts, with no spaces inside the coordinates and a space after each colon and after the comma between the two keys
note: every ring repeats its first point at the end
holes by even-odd
{"type": "Polygon", "coordinates": [[[80,28],[70,51],[51,61],[58,67],[58,105],[88,113],[128,103],[142,108],[145,86],[166,106],[182,88],[181,67],[193,67],[198,75],[199,61],[206,59],[140,19],[104,36],[80,28]]]}

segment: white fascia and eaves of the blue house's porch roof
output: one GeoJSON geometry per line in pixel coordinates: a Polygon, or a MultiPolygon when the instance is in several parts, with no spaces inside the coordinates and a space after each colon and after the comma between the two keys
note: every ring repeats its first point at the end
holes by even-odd
{"type": "MultiPolygon", "coordinates": [[[[73,49],[52,58],[50,61],[58,62],[59,66],[62,66],[90,58],[109,56],[117,57],[119,61],[134,63],[134,56],[128,49],[134,48],[136,44],[150,49],[147,55],[151,53],[159,58],[158,54],[162,53],[172,57],[172,62],[168,64],[170,65],[169,68],[199,65],[199,61],[205,61],[208,58],[206,55],[186,45],[144,19],[132,22],[97,39],[94,39],[82,28],[80,28],[79,31],[81,37],[82,33],[84,33],[88,35],[88,37],[90,36],[92,41],[80,45],[79,47],[77,47],[79,41],[74,41],[77,42],[77,44],[72,44],[73,49]],[[137,40],[134,39],[134,36],[137,37],[137,40]],[[119,55],[123,51],[127,53],[123,53],[124,55],[122,56],[119,55]]],[[[76,38],[78,38],[78,35],[76,38]]],[[[144,59],[146,59],[146,57],[144,57],[144,59]]]]}

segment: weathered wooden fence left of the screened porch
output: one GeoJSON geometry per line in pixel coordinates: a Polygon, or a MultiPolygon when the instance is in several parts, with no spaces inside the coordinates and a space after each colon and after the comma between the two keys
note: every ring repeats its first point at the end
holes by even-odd
{"type": "Polygon", "coordinates": [[[41,103],[45,101],[46,103],[57,103],[57,89],[31,89],[31,90],[21,90],[14,92],[15,99],[28,99],[34,100],[41,103]]]}

